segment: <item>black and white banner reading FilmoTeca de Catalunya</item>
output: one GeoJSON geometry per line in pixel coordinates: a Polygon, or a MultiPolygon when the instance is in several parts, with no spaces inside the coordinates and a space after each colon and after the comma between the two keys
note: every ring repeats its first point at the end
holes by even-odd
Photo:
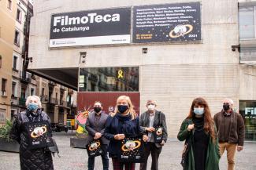
{"type": "Polygon", "coordinates": [[[131,42],[131,8],[98,9],[51,16],[50,47],[131,42]]]}

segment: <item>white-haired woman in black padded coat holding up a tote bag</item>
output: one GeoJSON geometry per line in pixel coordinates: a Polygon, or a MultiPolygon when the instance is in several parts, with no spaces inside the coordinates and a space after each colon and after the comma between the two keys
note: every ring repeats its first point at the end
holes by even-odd
{"type": "Polygon", "coordinates": [[[20,143],[21,170],[53,170],[53,160],[47,146],[52,136],[50,118],[41,110],[38,96],[28,96],[27,110],[17,115],[10,138],[20,143]]]}

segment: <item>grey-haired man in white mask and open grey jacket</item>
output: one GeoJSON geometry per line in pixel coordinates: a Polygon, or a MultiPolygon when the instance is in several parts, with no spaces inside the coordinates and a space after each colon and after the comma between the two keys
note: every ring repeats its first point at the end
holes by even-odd
{"type": "Polygon", "coordinates": [[[167,126],[165,122],[165,114],[155,109],[156,102],[154,100],[147,100],[147,111],[141,114],[139,125],[143,131],[147,133],[148,140],[145,144],[145,161],[140,164],[140,170],[147,170],[147,158],[151,153],[152,165],[151,170],[158,170],[158,157],[161,153],[161,146],[167,140],[167,126]],[[157,132],[156,128],[161,127],[162,138],[160,142],[155,141],[157,132]]]}

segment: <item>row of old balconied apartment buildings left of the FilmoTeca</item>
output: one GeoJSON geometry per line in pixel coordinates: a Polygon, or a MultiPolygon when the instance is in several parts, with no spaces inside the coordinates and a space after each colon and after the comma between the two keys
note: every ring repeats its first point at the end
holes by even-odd
{"type": "Polygon", "coordinates": [[[28,72],[28,43],[33,1],[0,1],[0,125],[26,109],[28,96],[40,96],[54,123],[76,114],[76,91],[28,72]]]}

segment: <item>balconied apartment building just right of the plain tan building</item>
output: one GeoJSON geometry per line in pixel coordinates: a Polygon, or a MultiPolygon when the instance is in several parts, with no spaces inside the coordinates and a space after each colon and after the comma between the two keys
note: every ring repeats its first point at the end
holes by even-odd
{"type": "Polygon", "coordinates": [[[28,0],[14,2],[17,2],[17,11],[13,41],[11,120],[13,120],[15,114],[26,108],[26,98],[36,94],[35,76],[28,73],[26,67],[26,61],[28,61],[29,22],[32,17],[33,6],[28,0]]]}

